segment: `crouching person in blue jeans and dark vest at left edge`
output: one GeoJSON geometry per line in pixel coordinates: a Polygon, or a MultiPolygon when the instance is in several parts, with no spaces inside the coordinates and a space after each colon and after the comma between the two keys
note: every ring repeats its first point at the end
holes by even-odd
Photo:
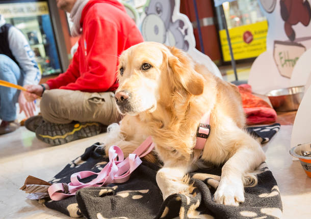
{"type": "MultiPolygon", "coordinates": [[[[38,84],[40,79],[35,55],[27,39],[0,15],[0,80],[23,86],[38,84]]],[[[0,86],[0,135],[19,128],[16,102],[20,113],[23,111],[27,117],[34,115],[34,102],[28,102],[23,93],[15,88],[0,86]]]]}

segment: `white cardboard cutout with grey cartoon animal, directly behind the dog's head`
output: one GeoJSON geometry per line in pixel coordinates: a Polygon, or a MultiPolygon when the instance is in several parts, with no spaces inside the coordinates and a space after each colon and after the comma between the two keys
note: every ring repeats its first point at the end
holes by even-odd
{"type": "Polygon", "coordinates": [[[211,58],[195,48],[192,24],[186,15],[179,12],[179,6],[179,0],[148,0],[139,25],[144,40],[183,49],[213,74],[222,78],[211,58]]]}

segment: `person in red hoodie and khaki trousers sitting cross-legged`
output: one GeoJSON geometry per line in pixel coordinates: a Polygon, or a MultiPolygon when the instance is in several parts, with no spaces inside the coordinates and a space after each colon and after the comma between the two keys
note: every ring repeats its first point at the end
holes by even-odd
{"type": "Polygon", "coordinates": [[[51,145],[90,137],[121,119],[114,101],[118,56],[143,42],[135,22],[117,0],[57,0],[70,13],[79,46],[67,71],[40,85],[28,85],[29,101],[42,97],[41,116],[25,127],[51,145]]]}

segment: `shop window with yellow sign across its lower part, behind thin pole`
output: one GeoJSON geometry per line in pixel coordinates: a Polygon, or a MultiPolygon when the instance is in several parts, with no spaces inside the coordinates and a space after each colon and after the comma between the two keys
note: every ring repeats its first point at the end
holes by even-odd
{"type": "MultiPolygon", "coordinates": [[[[220,6],[221,7],[221,6],[220,6]]],[[[230,61],[229,46],[220,7],[216,8],[223,60],[230,61]]],[[[257,0],[237,0],[222,4],[235,59],[247,59],[266,51],[268,22],[257,0]]]]}

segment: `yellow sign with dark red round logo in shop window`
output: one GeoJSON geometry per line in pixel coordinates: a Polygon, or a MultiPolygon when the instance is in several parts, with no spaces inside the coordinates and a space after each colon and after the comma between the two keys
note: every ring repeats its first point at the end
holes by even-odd
{"type": "MultiPolygon", "coordinates": [[[[229,29],[232,50],[235,59],[256,57],[266,51],[266,38],[268,32],[267,21],[229,29]]],[[[230,51],[226,30],[220,30],[220,43],[224,61],[230,61],[230,51]]]]}

